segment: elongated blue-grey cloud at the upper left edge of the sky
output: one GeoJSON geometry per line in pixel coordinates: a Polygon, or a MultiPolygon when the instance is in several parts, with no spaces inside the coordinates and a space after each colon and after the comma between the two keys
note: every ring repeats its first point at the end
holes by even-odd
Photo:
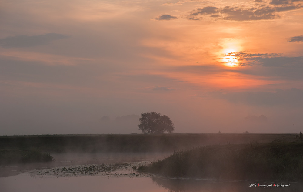
{"type": "Polygon", "coordinates": [[[8,36],[4,39],[0,39],[0,46],[3,48],[13,48],[13,47],[34,47],[39,45],[47,45],[48,43],[59,40],[66,39],[67,35],[62,35],[58,33],[47,33],[44,35],[17,35],[8,36]]]}

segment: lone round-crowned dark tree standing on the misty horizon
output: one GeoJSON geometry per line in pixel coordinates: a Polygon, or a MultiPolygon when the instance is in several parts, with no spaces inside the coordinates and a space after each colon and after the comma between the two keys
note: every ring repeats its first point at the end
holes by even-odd
{"type": "Polygon", "coordinates": [[[139,130],[146,134],[172,133],[175,129],[168,116],[156,112],[142,113],[139,121],[139,130]]]}

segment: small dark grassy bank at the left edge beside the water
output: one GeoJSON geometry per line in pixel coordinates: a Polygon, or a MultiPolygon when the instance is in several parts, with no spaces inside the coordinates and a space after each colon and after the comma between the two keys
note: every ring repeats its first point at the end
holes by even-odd
{"type": "Polygon", "coordinates": [[[44,153],[38,148],[32,148],[30,150],[0,150],[0,166],[16,163],[49,162],[53,160],[54,158],[51,154],[44,153]]]}

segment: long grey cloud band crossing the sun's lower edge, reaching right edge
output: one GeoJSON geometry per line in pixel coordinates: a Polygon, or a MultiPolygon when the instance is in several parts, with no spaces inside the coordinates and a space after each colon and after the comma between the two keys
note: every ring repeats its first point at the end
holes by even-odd
{"type": "MultiPolygon", "coordinates": [[[[303,56],[287,57],[278,53],[249,53],[247,51],[229,53],[225,56],[234,56],[237,59],[235,67],[222,67],[222,65],[184,65],[176,66],[171,70],[180,73],[195,74],[199,76],[216,76],[229,72],[247,75],[249,78],[260,81],[303,80],[303,56]]],[[[272,82],[271,82],[272,83],[272,82]]]]}

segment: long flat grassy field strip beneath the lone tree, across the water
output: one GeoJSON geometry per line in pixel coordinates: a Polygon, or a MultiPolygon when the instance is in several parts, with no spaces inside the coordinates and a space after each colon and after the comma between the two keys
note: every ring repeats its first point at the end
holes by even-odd
{"type": "Polygon", "coordinates": [[[29,150],[38,147],[48,153],[65,152],[173,152],[214,144],[294,141],[295,134],[116,134],[0,136],[0,149],[29,150]]]}

